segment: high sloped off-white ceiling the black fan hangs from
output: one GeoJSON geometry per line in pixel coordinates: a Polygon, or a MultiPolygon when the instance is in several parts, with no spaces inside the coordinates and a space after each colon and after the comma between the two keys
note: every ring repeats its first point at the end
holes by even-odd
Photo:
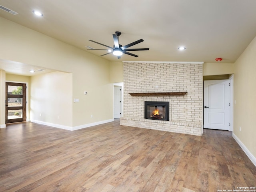
{"type": "MultiPolygon", "coordinates": [[[[139,55],[102,56],[110,61],[182,61],[234,63],[256,36],[255,0],[0,0],[15,12],[0,16],[86,50],[113,46],[112,34],[122,32],[119,42],[144,42],[130,48],[139,55]],[[32,11],[44,16],[37,17],[32,11]],[[186,50],[179,51],[179,46],[186,50]]],[[[3,65],[3,64],[2,64],[3,65]]]]}

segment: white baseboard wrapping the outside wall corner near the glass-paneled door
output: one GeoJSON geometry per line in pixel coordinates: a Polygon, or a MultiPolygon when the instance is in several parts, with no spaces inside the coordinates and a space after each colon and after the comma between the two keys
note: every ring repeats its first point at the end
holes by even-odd
{"type": "Polygon", "coordinates": [[[114,119],[108,119],[108,120],[104,120],[104,121],[84,124],[84,125],[75,126],[75,127],[64,126],[64,125],[59,125],[59,124],[54,124],[54,123],[48,123],[48,122],[43,122],[43,121],[38,121],[38,120],[30,120],[30,121],[33,122],[33,123],[38,123],[38,124],[42,124],[42,125],[47,125],[47,126],[51,126],[51,127],[56,127],[56,128],[60,128],[60,129],[74,131],[74,130],[78,130],[78,129],[88,128],[88,127],[91,127],[91,126],[112,122],[112,121],[114,121],[114,119]]]}

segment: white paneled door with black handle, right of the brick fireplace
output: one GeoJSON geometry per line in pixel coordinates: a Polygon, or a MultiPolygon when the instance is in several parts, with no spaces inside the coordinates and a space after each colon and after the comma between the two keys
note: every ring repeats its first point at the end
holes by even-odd
{"type": "Polygon", "coordinates": [[[230,130],[230,80],[204,81],[204,128],[230,130]]]}

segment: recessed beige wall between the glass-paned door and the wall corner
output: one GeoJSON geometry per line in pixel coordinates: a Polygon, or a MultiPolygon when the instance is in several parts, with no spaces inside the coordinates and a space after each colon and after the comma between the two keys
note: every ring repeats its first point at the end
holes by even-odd
{"type": "Polygon", "coordinates": [[[30,119],[72,127],[72,74],[51,72],[31,77],[30,119]]]}

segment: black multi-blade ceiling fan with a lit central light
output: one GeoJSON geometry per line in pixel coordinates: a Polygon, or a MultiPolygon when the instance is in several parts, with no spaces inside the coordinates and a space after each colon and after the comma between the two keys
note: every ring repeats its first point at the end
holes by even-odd
{"type": "Polygon", "coordinates": [[[134,41],[134,42],[129,43],[129,44],[125,45],[125,46],[120,45],[119,42],[118,42],[118,40],[119,40],[118,37],[119,37],[120,35],[121,35],[121,32],[119,32],[119,31],[116,31],[115,34],[113,34],[113,39],[114,39],[114,46],[113,46],[113,47],[110,47],[110,46],[101,44],[101,43],[96,42],[96,41],[94,41],[94,40],[89,40],[89,41],[91,41],[91,42],[94,42],[94,43],[97,43],[97,44],[100,44],[100,45],[103,45],[103,46],[109,48],[109,49],[89,49],[89,50],[106,50],[106,51],[108,51],[108,53],[103,54],[103,55],[100,55],[100,56],[104,56],[104,55],[113,53],[114,55],[117,56],[118,59],[121,58],[121,55],[122,55],[123,53],[124,53],[124,54],[127,54],[127,55],[134,56],[134,57],[138,57],[138,55],[129,53],[129,52],[127,52],[127,51],[145,51],[145,50],[149,50],[149,48],[128,49],[128,48],[131,47],[131,46],[134,46],[134,45],[136,45],[136,44],[138,44],[138,43],[143,42],[143,41],[144,41],[143,39],[134,41]]]}

